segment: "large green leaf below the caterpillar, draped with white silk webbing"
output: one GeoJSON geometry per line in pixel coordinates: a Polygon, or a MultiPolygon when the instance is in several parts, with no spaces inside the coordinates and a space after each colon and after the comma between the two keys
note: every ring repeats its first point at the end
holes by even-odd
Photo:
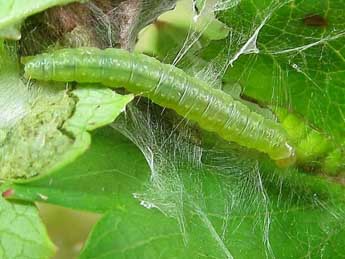
{"type": "MultiPolygon", "coordinates": [[[[148,182],[140,152],[118,133],[100,129],[93,140],[89,151],[60,172],[10,186],[16,199],[111,210],[95,227],[82,258],[226,258],[229,253],[265,258],[272,251],[277,258],[286,253],[299,258],[341,252],[345,196],[337,184],[296,170],[276,171],[269,161],[258,167],[252,159],[211,151],[202,168],[170,160],[172,166],[156,171],[156,186],[148,182]]],[[[182,154],[173,156],[186,158],[179,147],[182,154]]],[[[154,161],[160,168],[158,157],[154,161]]]]}

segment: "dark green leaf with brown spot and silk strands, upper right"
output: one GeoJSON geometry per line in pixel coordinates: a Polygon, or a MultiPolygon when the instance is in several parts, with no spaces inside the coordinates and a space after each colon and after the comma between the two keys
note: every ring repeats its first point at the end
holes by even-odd
{"type": "MultiPolygon", "coordinates": [[[[244,0],[219,12],[233,31],[232,53],[226,57],[232,66],[225,79],[238,81],[245,95],[289,107],[332,138],[343,140],[345,9],[339,8],[341,4],[339,0],[259,4],[244,0]]],[[[218,47],[210,47],[209,54],[218,47]]]]}

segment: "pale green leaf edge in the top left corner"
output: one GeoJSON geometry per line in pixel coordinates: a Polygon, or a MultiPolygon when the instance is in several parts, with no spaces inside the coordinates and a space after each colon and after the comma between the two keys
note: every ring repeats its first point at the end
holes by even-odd
{"type": "MultiPolygon", "coordinates": [[[[80,0],[82,1],[82,0],[80,0]]],[[[80,2],[79,1],[79,2],[80,2]]],[[[42,12],[56,5],[64,5],[77,0],[0,0],[0,36],[19,39],[20,33],[15,28],[30,15],[42,12]]]]}

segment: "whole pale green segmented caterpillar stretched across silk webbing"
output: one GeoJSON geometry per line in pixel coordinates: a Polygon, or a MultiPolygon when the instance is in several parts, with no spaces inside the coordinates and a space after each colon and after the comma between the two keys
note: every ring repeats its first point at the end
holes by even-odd
{"type": "Polygon", "coordinates": [[[225,140],[267,153],[273,160],[294,161],[294,148],[277,122],[152,57],[121,49],[79,48],[37,55],[24,59],[24,63],[27,77],[125,87],[225,140]]]}

